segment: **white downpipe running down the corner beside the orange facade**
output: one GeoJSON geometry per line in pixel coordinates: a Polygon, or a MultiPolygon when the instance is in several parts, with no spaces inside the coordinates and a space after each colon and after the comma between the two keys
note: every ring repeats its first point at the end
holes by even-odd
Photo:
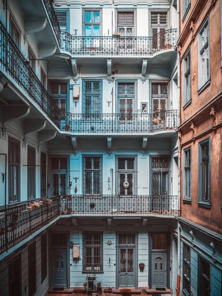
{"type": "MultiPolygon", "coordinates": [[[[177,0],[177,22],[178,22],[178,38],[180,37],[180,0],[177,0]]],[[[178,126],[181,125],[181,63],[180,54],[177,51],[178,65],[178,126]]],[[[181,216],[181,145],[178,139],[178,215],[181,216]]],[[[177,231],[177,296],[180,296],[181,282],[181,225],[178,223],[177,231]]]]}

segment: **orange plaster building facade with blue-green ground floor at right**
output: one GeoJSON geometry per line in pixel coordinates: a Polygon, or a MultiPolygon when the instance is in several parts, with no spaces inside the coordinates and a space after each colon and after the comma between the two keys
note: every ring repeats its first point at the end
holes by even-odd
{"type": "Polygon", "coordinates": [[[182,295],[221,295],[222,5],[181,1],[182,295]]]}

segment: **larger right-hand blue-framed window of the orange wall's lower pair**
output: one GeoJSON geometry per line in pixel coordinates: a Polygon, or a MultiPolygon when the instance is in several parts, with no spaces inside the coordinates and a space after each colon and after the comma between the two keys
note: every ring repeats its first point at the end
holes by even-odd
{"type": "Polygon", "coordinates": [[[210,139],[199,143],[199,202],[210,203],[210,139]]]}

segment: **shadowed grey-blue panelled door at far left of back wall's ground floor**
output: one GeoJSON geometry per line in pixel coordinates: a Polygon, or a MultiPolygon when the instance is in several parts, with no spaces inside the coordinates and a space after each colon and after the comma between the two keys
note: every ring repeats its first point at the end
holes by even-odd
{"type": "Polygon", "coordinates": [[[67,287],[67,250],[54,250],[53,286],[67,287]]]}

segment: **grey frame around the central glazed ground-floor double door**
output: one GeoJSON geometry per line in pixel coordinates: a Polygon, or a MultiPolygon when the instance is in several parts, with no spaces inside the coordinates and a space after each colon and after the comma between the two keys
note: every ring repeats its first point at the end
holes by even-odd
{"type": "MultiPolygon", "coordinates": [[[[135,234],[135,252],[134,252],[134,262],[135,262],[135,273],[134,273],[134,288],[138,288],[138,232],[125,231],[116,232],[116,270],[115,270],[115,288],[119,288],[119,234],[135,234]]],[[[121,247],[122,248],[122,247],[121,247]]]]}

